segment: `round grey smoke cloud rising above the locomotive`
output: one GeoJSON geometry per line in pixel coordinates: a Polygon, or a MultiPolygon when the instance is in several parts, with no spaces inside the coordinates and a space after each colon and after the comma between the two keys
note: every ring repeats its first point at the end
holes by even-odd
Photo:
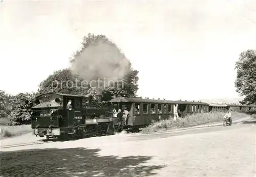
{"type": "MultiPolygon", "coordinates": [[[[84,48],[71,66],[71,72],[88,83],[100,79],[107,85],[122,80],[129,71],[129,60],[109,41],[99,41],[84,48]]],[[[98,84],[92,85],[98,88],[98,84]]]]}

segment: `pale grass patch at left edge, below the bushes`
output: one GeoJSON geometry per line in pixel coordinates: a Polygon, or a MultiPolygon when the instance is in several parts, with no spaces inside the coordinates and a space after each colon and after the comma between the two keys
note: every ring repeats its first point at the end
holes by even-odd
{"type": "Polygon", "coordinates": [[[31,125],[10,125],[11,122],[7,118],[0,119],[0,139],[16,137],[31,132],[31,125]]]}

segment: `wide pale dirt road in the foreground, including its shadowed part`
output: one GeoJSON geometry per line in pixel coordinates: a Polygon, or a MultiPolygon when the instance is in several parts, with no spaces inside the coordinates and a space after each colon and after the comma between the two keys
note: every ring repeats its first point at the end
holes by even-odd
{"type": "Polygon", "coordinates": [[[237,124],[12,147],[2,149],[0,176],[254,177],[255,135],[237,124]]]}

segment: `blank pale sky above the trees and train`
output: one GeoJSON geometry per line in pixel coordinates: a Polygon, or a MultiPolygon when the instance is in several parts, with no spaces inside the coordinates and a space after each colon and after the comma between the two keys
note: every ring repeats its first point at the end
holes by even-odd
{"type": "Polygon", "coordinates": [[[139,96],[238,97],[234,64],[256,49],[256,1],[3,0],[0,89],[36,91],[88,33],[106,35],[131,61],[139,96]]]}

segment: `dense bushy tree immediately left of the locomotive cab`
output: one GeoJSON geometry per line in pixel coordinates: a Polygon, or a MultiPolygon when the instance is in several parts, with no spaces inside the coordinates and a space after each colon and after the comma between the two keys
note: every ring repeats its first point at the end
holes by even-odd
{"type": "Polygon", "coordinates": [[[9,118],[14,124],[30,123],[30,109],[34,106],[34,95],[31,93],[19,93],[12,96],[10,104],[13,108],[9,118]]]}

